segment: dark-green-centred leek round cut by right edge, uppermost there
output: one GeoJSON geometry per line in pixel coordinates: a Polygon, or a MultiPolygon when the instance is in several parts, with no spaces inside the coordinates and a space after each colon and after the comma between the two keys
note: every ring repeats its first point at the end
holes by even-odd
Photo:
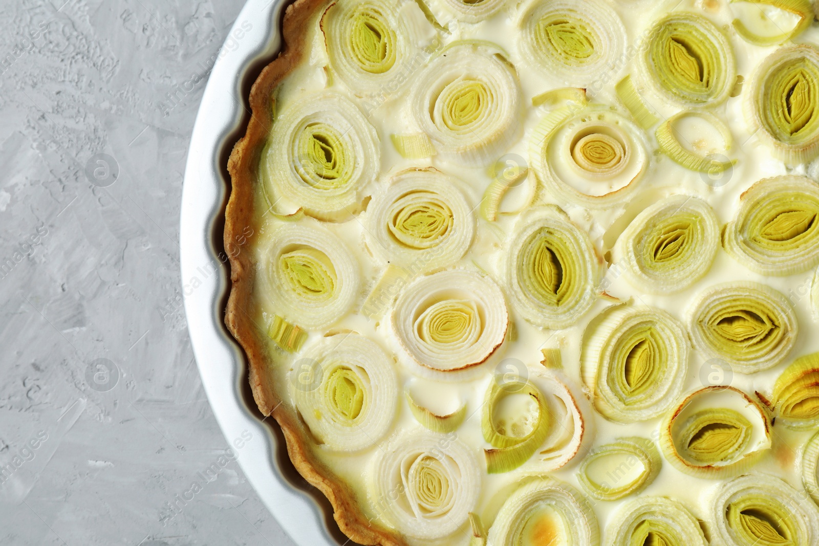
{"type": "Polygon", "coordinates": [[[745,102],[750,130],[787,165],[819,155],[819,50],[782,47],[762,61],[745,102]],[[762,129],[762,130],[759,130],[762,129]]]}

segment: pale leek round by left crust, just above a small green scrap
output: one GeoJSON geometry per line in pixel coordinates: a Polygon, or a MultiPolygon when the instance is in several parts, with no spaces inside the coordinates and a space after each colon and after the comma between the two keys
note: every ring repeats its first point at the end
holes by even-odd
{"type": "Polygon", "coordinates": [[[332,232],[303,223],[274,229],[266,250],[270,306],[308,329],[342,318],[360,288],[359,265],[332,232]]]}

